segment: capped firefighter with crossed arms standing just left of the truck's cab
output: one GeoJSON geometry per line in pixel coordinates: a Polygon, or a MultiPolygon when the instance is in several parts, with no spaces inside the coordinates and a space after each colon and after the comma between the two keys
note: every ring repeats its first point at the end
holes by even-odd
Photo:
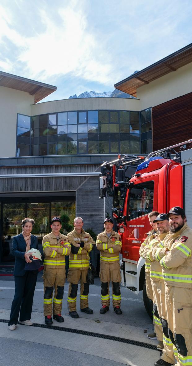
{"type": "Polygon", "coordinates": [[[122,314],[120,309],[120,265],[119,252],[122,247],[121,237],[113,231],[113,220],[107,217],[104,220],[105,231],[97,236],[97,249],[100,250],[100,280],[101,304],[100,314],[105,314],[110,306],[109,283],[112,282],[112,303],[116,314],[122,314]]]}

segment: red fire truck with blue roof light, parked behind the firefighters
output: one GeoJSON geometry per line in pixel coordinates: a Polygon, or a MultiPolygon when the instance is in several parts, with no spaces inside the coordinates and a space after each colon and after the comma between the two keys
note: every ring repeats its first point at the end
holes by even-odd
{"type": "Polygon", "coordinates": [[[188,140],[147,157],[118,156],[116,161],[101,166],[100,197],[113,193],[112,216],[122,237],[121,284],[135,294],[143,290],[150,316],[145,261],[139,255],[139,247],[151,229],[147,217],[151,211],[167,213],[173,206],[181,206],[192,227],[191,146],[192,140],[188,140]]]}

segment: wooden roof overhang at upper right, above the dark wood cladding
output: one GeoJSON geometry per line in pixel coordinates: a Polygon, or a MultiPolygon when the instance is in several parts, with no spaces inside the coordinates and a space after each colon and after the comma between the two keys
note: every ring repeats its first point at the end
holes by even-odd
{"type": "Polygon", "coordinates": [[[161,78],[161,76],[169,74],[169,72],[176,71],[190,62],[192,62],[192,43],[119,81],[114,87],[137,97],[137,88],[140,86],[149,84],[151,81],[161,78]]]}

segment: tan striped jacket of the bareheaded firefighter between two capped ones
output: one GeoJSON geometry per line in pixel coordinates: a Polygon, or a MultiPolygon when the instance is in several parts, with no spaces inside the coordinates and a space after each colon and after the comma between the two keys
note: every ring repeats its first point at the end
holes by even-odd
{"type": "Polygon", "coordinates": [[[69,270],[70,269],[88,269],[89,268],[89,252],[92,251],[95,244],[93,238],[84,229],[81,229],[81,234],[78,234],[76,229],[71,231],[68,236],[70,244],[78,247],[77,244],[84,242],[84,247],[79,247],[77,254],[72,252],[69,255],[69,270]]]}

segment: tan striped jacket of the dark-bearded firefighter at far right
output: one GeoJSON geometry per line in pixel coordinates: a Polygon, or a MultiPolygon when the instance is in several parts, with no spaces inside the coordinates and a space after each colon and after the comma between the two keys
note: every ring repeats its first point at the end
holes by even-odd
{"type": "Polygon", "coordinates": [[[164,242],[172,242],[169,253],[160,260],[164,282],[175,287],[192,288],[192,229],[185,223],[180,231],[169,234],[164,242]]]}

